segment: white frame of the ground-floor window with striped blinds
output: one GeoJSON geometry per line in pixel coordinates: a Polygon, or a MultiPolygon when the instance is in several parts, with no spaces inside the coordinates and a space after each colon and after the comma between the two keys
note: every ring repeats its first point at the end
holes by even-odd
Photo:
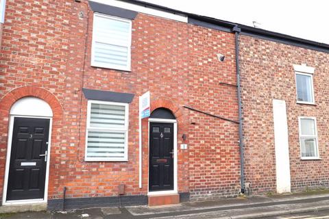
{"type": "Polygon", "coordinates": [[[86,162],[127,162],[128,161],[128,131],[129,131],[129,103],[119,103],[119,102],[111,102],[111,101],[95,101],[88,100],[87,104],[87,118],[86,118],[86,144],[85,144],[85,152],[84,152],[84,161],[86,162]],[[90,127],[90,113],[91,113],[91,105],[95,104],[103,104],[103,105],[119,105],[125,106],[125,127],[123,128],[114,128],[114,127],[90,127]],[[121,131],[125,133],[125,150],[123,158],[112,157],[88,157],[87,149],[88,149],[88,131],[89,130],[101,130],[101,131],[121,131]]]}

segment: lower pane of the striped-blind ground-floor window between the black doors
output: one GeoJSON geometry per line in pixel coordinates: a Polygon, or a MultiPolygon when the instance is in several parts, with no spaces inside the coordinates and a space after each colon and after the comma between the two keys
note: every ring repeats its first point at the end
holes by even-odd
{"type": "Polygon", "coordinates": [[[125,133],[119,131],[88,131],[87,157],[123,158],[125,133]]]}

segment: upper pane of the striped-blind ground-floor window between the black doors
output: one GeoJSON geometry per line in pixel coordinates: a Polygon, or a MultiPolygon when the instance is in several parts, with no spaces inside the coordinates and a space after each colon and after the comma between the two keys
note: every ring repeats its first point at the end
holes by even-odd
{"type": "Polygon", "coordinates": [[[92,103],[90,127],[125,127],[125,106],[92,103]]]}

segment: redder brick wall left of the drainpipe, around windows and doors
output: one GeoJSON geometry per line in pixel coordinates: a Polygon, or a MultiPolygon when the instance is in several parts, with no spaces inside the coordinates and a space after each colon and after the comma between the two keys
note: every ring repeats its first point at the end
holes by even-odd
{"type": "Polygon", "coordinates": [[[117,196],[121,183],[126,194],[147,194],[146,119],[143,188],[138,188],[138,96],[149,90],[152,110],[167,107],[178,120],[179,192],[191,191],[193,199],[239,192],[237,125],[183,107],[237,119],[235,88],[218,85],[236,83],[232,34],[139,13],[132,22],[132,71],[123,72],[90,66],[93,12],[86,1],[10,1],[6,21],[0,56],[0,99],[6,103],[0,111],[0,186],[8,109],[19,97],[32,95],[62,112],[53,118],[49,198],[61,198],[64,186],[67,198],[117,196]],[[218,62],[216,53],[225,54],[226,61],[218,62]],[[27,86],[38,89],[12,98],[15,88],[27,86]],[[135,94],[128,162],[84,162],[87,100],[82,88],[135,94]],[[183,133],[188,150],[180,149],[183,133]]]}

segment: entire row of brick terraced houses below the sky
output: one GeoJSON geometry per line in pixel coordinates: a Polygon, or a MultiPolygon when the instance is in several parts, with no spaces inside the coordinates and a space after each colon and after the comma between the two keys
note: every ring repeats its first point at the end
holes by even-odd
{"type": "Polygon", "coordinates": [[[141,1],[1,3],[0,208],[329,187],[329,45],[141,1]]]}

